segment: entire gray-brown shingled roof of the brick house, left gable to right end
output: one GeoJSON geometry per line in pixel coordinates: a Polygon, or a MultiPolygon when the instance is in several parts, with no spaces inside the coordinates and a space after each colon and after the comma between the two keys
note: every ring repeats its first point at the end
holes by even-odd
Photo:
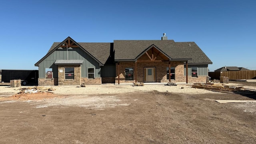
{"type": "MultiPolygon", "coordinates": [[[[66,40],[68,38],[66,38],[66,40]]],[[[72,38],[70,39],[72,40],[72,38]]],[[[56,50],[56,48],[63,42],[54,42],[44,58],[56,50]]],[[[150,46],[158,48],[158,50],[160,50],[170,60],[188,60],[189,64],[212,64],[212,61],[206,56],[206,54],[204,54],[195,42],[174,42],[174,40],[114,40],[114,43],[75,43],[101,64],[106,64],[106,62],[109,61],[114,62],[114,60],[136,61],[136,58],[143,54],[143,52],[145,52],[147,48],[150,48],[150,46]],[[112,56],[113,54],[114,56],[112,56]],[[110,58],[110,56],[112,57],[110,58]]],[[[35,66],[38,66],[44,58],[39,60],[35,66]]]]}

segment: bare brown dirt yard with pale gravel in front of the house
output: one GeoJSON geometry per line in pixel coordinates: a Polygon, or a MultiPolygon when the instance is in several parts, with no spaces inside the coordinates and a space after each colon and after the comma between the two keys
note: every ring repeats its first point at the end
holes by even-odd
{"type": "MultiPolygon", "coordinates": [[[[256,89],[256,82],[230,85],[256,89]]],[[[0,86],[0,144],[252,144],[256,96],[188,85],[0,86]],[[181,88],[184,87],[184,88],[181,88]]]]}

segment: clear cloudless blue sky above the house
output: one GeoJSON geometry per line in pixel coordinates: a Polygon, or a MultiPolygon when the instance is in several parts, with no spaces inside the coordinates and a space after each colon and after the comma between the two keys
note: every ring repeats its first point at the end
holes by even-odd
{"type": "Polygon", "coordinates": [[[256,70],[255,0],[9,0],[0,5],[0,69],[37,70],[53,42],[196,42],[222,66],[256,70]]]}

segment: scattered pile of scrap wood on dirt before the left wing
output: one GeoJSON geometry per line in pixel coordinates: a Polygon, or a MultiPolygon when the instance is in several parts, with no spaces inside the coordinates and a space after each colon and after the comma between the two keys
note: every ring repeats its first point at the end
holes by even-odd
{"type": "MultiPolygon", "coordinates": [[[[34,86],[34,87],[27,87],[27,88],[19,88],[20,92],[18,94],[23,94],[23,93],[37,93],[37,92],[50,92],[54,91],[52,87],[44,87],[44,86],[34,86]]],[[[50,92],[52,93],[52,92],[50,92]]]]}

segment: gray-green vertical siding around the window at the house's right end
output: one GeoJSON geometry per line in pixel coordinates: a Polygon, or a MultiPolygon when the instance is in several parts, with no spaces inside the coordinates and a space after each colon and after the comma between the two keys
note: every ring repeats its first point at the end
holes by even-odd
{"type": "MultiPolygon", "coordinates": [[[[191,76],[192,67],[197,67],[197,75],[198,76],[208,76],[208,65],[207,64],[196,64],[196,65],[188,65],[188,76],[191,76]]],[[[186,65],[184,65],[184,76],[186,76],[186,65]]]]}

